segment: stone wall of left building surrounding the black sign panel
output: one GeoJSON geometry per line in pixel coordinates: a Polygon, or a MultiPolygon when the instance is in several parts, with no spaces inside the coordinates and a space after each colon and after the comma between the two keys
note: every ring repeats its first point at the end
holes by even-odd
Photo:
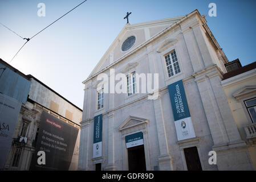
{"type": "MultiPolygon", "coordinates": [[[[13,144],[9,151],[9,156],[6,160],[6,170],[29,170],[32,160],[32,156],[35,151],[36,131],[40,126],[40,117],[42,111],[46,111],[54,117],[61,119],[64,122],[69,123],[73,127],[79,127],[79,121],[82,118],[82,110],[77,109],[74,105],[71,105],[56,93],[47,89],[45,86],[31,79],[31,87],[29,92],[29,98],[26,104],[22,104],[21,112],[17,122],[17,127],[14,133],[13,144]],[[54,104],[52,104],[54,103],[54,104]],[[58,108],[58,109],[56,109],[58,108]],[[68,111],[70,113],[68,113],[68,111]],[[68,121],[70,119],[70,121],[68,121]],[[72,121],[72,122],[71,122],[72,121]],[[27,122],[28,127],[25,136],[27,137],[27,143],[21,146],[21,143],[17,140],[21,136],[23,122],[27,122]],[[19,158],[18,166],[13,166],[15,151],[17,147],[21,147],[21,156],[19,158]]],[[[79,155],[79,141],[80,130],[76,139],[74,153],[71,160],[69,170],[75,171],[78,169],[78,155],[79,155]]]]}

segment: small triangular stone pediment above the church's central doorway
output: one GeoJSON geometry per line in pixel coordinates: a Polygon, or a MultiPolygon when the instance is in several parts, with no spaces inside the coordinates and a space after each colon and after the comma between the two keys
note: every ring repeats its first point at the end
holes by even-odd
{"type": "Polygon", "coordinates": [[[148,119],[134,117],[134,116],[130,115],[127,119],[125,119],[125,121],[123,123],[121,123],[121,125],[118,127],[118,129],[119,129],[119,131],[122,131],[125,129],[129,129],[131,127],[143,125],[144,123],[148,123],[148,122],[149,122],[148,119]]]}

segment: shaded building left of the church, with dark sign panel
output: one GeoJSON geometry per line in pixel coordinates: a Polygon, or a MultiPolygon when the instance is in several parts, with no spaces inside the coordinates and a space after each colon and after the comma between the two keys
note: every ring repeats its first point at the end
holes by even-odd
{"type": "MultiPolygon", "coordinates": [[[[82,109],[34,76],[24,75],[3,60],[0,64],[1,68],[5,68],[4,72],[0,72],[2,94],[5,97],[9,94],[14,99],[23,96],[23,102],[18,101],[21,107],[16,113],[17,119],[12,121],[15,127],[13,135],[8,136],[11,139],[10,148],[2,169],[77,170],[82,109]],[[11,79],[14,76],[10,73],[18,78],[11,79]],[[46,153],[46,164],[41,166],[37,166],[34,160],[39,157],[38,151],[46,153]]],[[[1,112],[1,123],[4,122],[4,115],[1,112]]],[[[6,138],[1,137],[1,140],[6,138]]]]}

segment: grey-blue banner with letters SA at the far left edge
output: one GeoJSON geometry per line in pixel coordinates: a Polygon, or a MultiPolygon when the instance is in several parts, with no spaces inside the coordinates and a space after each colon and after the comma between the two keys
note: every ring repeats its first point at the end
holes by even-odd
{"type": "Polygon", "coordinates": [[[21,102],[0,93],[0,169],[5,167],[21,105],[21,102]]]}

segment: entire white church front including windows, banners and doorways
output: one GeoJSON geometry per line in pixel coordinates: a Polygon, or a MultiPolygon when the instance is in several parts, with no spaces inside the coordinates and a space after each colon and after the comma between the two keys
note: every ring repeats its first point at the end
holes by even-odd
{"type": "Polygon", "coordinates": [[[254,170],[221,85],[226,63],[197,10],[127,23],[83,81],[78,169],[254,170]],[[119,73],[128,93],[116,92],[119,73]]]}

